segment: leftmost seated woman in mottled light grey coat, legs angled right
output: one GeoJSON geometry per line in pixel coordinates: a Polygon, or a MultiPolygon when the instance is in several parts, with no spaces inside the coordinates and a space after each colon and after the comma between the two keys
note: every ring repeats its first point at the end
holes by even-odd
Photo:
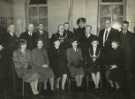
{"type": "Polygon", "coordinates": [[[30,83],[33,94],[37,95],[39,94],[37,88],[39,75],[32,70],[31,52],[26,48],[27,41],[21,39],[19,48],[13,53],[13,61],[18,77],[30,83]]]}

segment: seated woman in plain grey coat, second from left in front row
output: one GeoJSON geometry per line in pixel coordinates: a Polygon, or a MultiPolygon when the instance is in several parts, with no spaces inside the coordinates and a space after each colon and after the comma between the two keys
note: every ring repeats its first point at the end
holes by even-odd
{"type": "Polygon", "coordinates": [[[44,90],[47,89],[47,81],[49,80],[51,90],[54,90],[54,74],[49,67],[49,59],[46,49],[43,47],[43,41],[37,41],[37,48],[32,50],[33,70],[40,75],[41,82],[44,82],[44,90]]]}

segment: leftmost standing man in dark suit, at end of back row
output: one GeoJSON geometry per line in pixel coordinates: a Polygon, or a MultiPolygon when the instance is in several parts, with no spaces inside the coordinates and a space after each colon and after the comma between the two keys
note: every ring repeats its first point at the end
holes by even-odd
{"type": "MultiPolygon", "coordinates": [[[[10,24],[8,26],[8,31],[5,32],[2,36],[2,46],[3,46],[3,63],[5,65],[5,72],[8,75],[8,88],[12,90],[12,92],[16,91],[16,74],[15,68],[12,61],[13,52],[18,47],[18,38],[15,35],[15,25],[10,24]]],[[[4,68],[2,69],[4,71],[4,68]]],[[[15,93],[14,93],[15,94],[15,93]]]]}

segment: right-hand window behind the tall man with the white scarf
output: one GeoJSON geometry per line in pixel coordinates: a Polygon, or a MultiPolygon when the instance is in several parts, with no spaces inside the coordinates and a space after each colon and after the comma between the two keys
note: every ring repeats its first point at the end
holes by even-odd
{"type": "Polygon", "coordinates": [[[106,19],[111,20],[113,26],[120,26],[125,18],[126,0],[99,0],[98,31],[104,27],[106,19]]]}

